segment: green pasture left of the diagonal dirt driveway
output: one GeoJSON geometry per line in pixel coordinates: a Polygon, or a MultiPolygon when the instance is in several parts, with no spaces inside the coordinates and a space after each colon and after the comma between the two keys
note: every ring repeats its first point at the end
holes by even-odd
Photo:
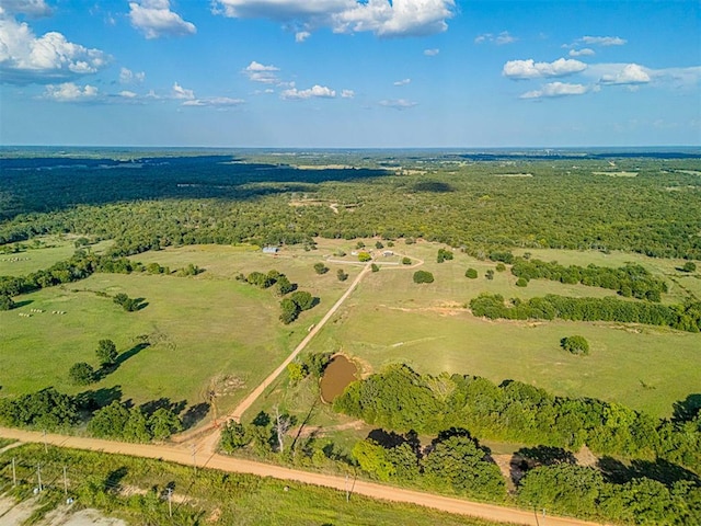
{"type": "MultiPolygon", "coordinates": [[[[206,271],[196,277],[94,274],[19,297],[20,308],[0,312],[1,393],[47,386],[81,391],[84,388],[69,384],[68,369],[83,361],[96,366],[99,340],[111,339],[120,353],[129,355],[138,348],[137,336],[148,335],[150,346],[90,388],[116,387],[125,399],[136,402],[164,397],[194,404],[204,401],[212,379],[228,377],[228,381],[216,382],[228,395],[219,402],[225,411],[284,359],[347,286],[331,273],[318,276],[312,268],[318,256],[303,254],[273,259],[260,251],[228,247],[159,251],[140,254],[138,260],[152,259],[174,267],[192,262],[206,271]],[[320,297],[320,305],[295,323],[283,325],[277,319],[279,298],[272,290],[232,277],[271,268],[320,297]],[[125,312],[97,291],[126,293],[145,298],[148,305],[138,312],[125,312]],[[44,312],[32,313],[31,309],[44,312]],[[66,315],[53,315],[55,310],[66,315]]],[[[357,271],[348,272],[353,276],[357,271]]]]}

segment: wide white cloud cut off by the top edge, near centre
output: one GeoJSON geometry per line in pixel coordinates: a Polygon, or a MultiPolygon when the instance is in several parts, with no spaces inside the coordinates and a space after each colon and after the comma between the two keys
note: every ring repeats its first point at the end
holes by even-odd
{"type": "Polygon", "coordinates": [[[418,36],[446,31],[455,0],[215,0],[214,12],[275,20],[303,32],[331,27],[336,33],[418,36]]]}

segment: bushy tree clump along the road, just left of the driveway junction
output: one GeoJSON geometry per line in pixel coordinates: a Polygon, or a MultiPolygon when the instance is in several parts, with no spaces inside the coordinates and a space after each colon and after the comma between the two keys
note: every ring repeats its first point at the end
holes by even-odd
{"type": "Polygon", "coordinates": [[[164,441],[183,430],[183,423],[173,407],[148,411],[145,405],[129,407],[117,400],[92,415],[88,432],[99,438],[125,442],[164,441]]]}

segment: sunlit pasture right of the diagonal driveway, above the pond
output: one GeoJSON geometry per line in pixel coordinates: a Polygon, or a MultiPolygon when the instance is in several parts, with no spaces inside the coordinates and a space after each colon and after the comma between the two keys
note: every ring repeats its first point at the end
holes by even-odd
{"type": "MultiPolygon", "coordinates": [[[[484,272],[495,267],[492,262],[456,253],[453,261],[438,264],[437,248],[428,243],[402,250],[425,259],[422,268],[434,273],[435,283],[415,285],[413,271],[404,268],[383,268],[369,275],[312,343],[312,350],[343,350],[365,363],[366,373],[405,362],[423,373],[447,370],[497,382],[517,379],[556,395],[617,401],[660,416],[671,414],[675,401],[697,393],[701,386],[700,334],[604,322],[489,321],[462,308],[481,291],[529,298],[551,293],[612,296],[611,290],[543,279],[519,288],[508,271],[485,279],[484,272]],[[480,277],[466,278],[468,267],[476,268],[480,277]],[[573,334],[589,341],[589,356],[570,355],[560,348],[560,340],[573,334]]],[[[568,263],[563,255],[566,253],[539,254],[568,263]]],[[[571,258],[573,263],[586,265],[598,255],[575,253],[571,258]]],[[[613,265],[623,263],[621,255],[613,265]]],[[[676,263],[666,265],[674,271],[676,263]]]]}

